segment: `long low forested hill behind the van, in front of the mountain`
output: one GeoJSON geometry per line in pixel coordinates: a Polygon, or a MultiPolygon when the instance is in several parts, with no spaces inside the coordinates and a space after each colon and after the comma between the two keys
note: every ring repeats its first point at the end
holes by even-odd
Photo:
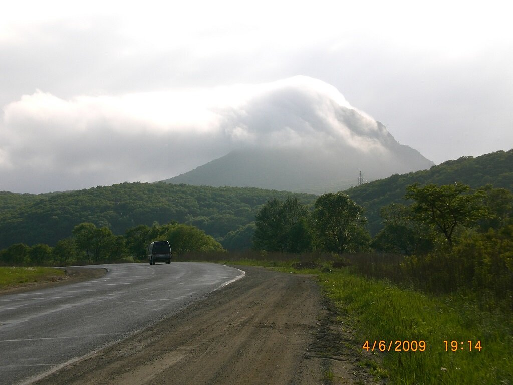
{"type": "MultiPolygon", "coordinates": [[[[124,234],[129,227],[173,220],[197,226],[224,245],[223,241],[236,244],[238,236],[248,238],[252,234],[250,223],[263,203],[290,195],[259,188],[166,183],[123,183],[42,195],[3,192],[0,248],[18,242],[54,245],[69,237],[73,227],[82,222],[124,234]]],[[[315,199],[308,194],[294,196],[305,204],[315,199]]]]}

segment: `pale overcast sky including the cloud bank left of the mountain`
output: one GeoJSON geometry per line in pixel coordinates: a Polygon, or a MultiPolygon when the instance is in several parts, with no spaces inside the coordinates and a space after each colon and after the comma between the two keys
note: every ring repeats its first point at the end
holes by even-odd
{"type": "Polygon", "coordinates": [[[513,147],[504,1],[76,3],[2,7],[0,190],[186,172],[241,134],[215,131],[215,108],[295,75],[332,85],[436,164],[513,147]],[[156,167],[155,148],[183,162],[156,167]]]}

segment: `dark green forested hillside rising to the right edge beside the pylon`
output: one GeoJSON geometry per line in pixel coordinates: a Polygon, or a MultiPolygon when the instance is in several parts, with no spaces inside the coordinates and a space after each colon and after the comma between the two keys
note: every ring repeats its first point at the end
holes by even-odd
{"type": "Polygon", "coordinates": [[[417,182],[421,186],[461,182],[472,188],[491,184],[495,188],[513,191],[513,150],[492,152],[477,158],[462,157],[429,170],[392,175],[345,192],[366,209],[364,215],[368,218],[369,230],[376,234],[381,227],[380,208],[392,202],[405,202],[406,186],[417,182]]]}

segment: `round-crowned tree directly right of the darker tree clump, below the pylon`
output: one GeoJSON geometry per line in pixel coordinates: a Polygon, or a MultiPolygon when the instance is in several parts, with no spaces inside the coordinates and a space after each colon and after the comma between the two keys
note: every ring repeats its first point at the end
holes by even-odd
{"type": "Polygon", "coordinates": [[[314,203],[316,248],[333,253],[356,252],[368,247],[363,208],[343,192],[328,192],[314,203]]]}

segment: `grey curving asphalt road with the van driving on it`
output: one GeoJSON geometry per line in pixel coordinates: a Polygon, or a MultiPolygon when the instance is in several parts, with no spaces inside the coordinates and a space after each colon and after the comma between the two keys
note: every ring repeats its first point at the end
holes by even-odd
{"type": "Polygon", "coordinates": [[[244,276],[239,269],[211,263],[94,267],[108,273],[0,296],[0,384],[30,383],[244,276]]]}

